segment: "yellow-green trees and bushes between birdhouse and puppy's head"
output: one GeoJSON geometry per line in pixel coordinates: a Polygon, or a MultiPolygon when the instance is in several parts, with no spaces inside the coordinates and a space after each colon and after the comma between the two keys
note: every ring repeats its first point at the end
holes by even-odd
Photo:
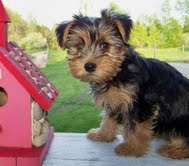
{"type": "Polygon", "coordinates": [[[18,13],[9,8],[6,8],[6,10],[11,19],[8,26],[10,41],[17,42],[23,49],[38,49],[44,47],[47,43],[51,48],[58,48],[55,29],[50,30],[46,26],[38,25],[36,19],[32,16],[30,21],[27,22],[18,13]],[[39,42],[39,40],[41,41],[39,42]]]}

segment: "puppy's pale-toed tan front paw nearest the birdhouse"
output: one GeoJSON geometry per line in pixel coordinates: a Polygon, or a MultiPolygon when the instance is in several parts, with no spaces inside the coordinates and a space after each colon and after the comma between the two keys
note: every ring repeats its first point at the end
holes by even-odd
{"type": "Polygon", "coordinates": [[[91,129],[88,131],[87,138],[94,140],[94,141],[101,141],[101,142],[111,142],[116,137],[111,133],[105,132],[100,128],[91,129]]]}

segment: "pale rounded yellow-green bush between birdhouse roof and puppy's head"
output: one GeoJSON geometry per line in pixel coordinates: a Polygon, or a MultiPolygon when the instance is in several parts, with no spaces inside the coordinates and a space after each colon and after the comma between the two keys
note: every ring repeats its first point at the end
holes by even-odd
{"type": "Polygon", "coordinates": [[[19,45],[25,50],[41,49],[47,46],[47,40],[41,33],[31,32],[26,37],[18,41],[19,45]]]}

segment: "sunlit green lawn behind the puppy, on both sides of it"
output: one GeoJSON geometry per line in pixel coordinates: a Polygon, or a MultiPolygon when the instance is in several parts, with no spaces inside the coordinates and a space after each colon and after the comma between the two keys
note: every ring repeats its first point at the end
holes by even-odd
{"type": "MultiPolygon", "coordinates": [[[[137,49],[146,57],[153,58],[153,49],[137,49]]],[[[95,107],[87,83],[72,78],[67,66],[66,53],[62,50],[50,50],[49,61],[42,69],[49,80],[59,90],[59,97],[49,111],[49,122],[56,132],[87,132],[100,124],[101,111],[95,107]]],[[[188,62],[189,50],[157,49],[160,60],[168,62],[188,62]]]]}

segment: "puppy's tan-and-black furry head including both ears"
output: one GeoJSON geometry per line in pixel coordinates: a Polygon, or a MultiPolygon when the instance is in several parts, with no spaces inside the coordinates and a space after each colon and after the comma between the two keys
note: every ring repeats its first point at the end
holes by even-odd
{"type": "Polygon", "coordinates": [[[73,18],[56,29],[60,47],[68,50],[72,75],[86,82],[112,80],[125,59],[131,19],[111,10],[103,10],[100,18],[73,18]]]}

